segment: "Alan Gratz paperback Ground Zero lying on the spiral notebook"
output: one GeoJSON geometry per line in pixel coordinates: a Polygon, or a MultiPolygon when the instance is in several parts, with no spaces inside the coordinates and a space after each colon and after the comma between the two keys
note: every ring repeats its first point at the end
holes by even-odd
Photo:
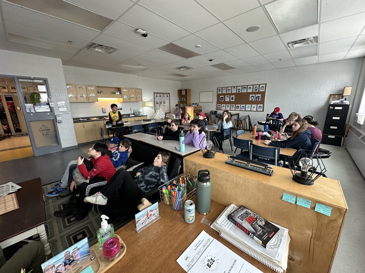
{"type": "Polygon", "coordinates": [[[243,232],[258,242],[264,248],[269,244],[279,228],[261,216],[247,209],[245,206],[228,214],[228,220],[239,227],[243,232]]]}

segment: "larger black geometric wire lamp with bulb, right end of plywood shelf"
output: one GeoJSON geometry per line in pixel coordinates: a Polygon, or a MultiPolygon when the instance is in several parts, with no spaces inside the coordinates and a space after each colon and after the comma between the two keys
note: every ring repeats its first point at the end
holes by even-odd
{"type": "Polygon", "coordinates": [[[288,161],[293,180],[302,185],[313,185],[314,181],[326,172],[317,152],[298,150],[288,161]]]}

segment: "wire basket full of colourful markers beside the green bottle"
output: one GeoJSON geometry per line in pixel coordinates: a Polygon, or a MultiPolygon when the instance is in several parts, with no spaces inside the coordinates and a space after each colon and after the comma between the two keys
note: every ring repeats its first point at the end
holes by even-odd
{"type": "Polygon", "coordinates": [[[179,175],[174,179],[171,179],[169,182],[166,182],[164,185],[158,187],[160,192],[161,203],[168,206],[170,209],[179,213],[184,208],[184,203],[187,200],[195,200],[196,197],[196,188],[195,183],[193,182],[193,178],[188,175],[179,175]],[[180,179],[181,178],[181,179],[180,179]],[[187,178],[187,179],[185,179],[187,178]],[[182,183],[180,183],[183,181],[182,183]],[[190,182],[190,183],[189,183],[190,182]],[[191,186],[190,186],[191,184],[191,186]],[[170,186],[170,191],[168,190],[168,186],[170,186]],[[173,195],[172,189],[180,189],[182,190],[181,194],[176,190],[176,195],[173,195]],[[165,189],[165,191],[163,190],[165,189]],[[185,192],[184,192],[185,189],[185,192]]]}

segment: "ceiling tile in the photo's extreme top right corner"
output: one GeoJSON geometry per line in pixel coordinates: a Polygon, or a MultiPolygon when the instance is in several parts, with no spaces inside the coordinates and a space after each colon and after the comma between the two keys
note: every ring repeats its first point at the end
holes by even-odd
{"type": "Polygon", "coordinates": [[[349,16],[354,13],[365,11],[364,0],[331,0],[322,2],[321,21],[326,22],[333,19],[349,16]]]}

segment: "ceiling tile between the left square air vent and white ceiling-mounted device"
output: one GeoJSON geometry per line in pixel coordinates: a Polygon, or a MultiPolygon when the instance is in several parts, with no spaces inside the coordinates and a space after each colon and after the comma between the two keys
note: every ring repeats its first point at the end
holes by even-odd
{"type": "Polygon", "coordinates": [[[130,41],[126,41],[123,39],[119,39],[117,37],[107,35],[104,33],[101,33],[99,36],[97,36],[93,42],[102,44],[104,46],[110,46],[110,47],[116,47],[123,50],[131,51],[134,53],[142,54],[147,51],[150,51],[152,48],[145,47],[140,44],[135,44],[130,41]]]}

